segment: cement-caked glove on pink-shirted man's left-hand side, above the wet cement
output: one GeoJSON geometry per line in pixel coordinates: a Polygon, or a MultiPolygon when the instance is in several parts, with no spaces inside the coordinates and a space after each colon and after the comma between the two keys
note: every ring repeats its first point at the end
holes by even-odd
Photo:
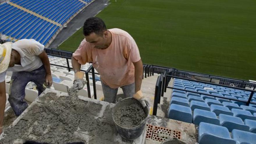
{"type": "Polygon", "coordinates": [[[83,86],[87,83],[87,81],[83,79],[83,76],[84,76],[83,72],[75,73],[74,82],[71,89],[73,89],[74,91],[77,91],[83,88],[83,86]]]}

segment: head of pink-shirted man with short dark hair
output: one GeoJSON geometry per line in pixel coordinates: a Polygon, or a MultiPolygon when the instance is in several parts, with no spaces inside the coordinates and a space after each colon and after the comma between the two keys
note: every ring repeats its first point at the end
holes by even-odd
{"type": "Polygon", "coordinates": [[[86,41],[92,43],[97,49],[108,47],[109,33],[103,20],[98,17],[86,19],[83,25],[83,35],[86,41]]]}

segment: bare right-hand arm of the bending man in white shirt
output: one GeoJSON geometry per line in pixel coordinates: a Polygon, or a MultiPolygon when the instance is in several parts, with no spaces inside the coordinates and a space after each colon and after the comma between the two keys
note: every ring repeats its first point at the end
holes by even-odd
{"type": "Polygon", "coordinates": [[[45,82],[46,82],[47,86],[50,87],[52,84],[52,77],[51,77],[51,67],[50,67],[49,58],[48,58],[47,54],[45,53],[45,51],[43,51],[38,56],[41,59],[43,65],[45,67],[45,72],[46,72],[45,82]]]}

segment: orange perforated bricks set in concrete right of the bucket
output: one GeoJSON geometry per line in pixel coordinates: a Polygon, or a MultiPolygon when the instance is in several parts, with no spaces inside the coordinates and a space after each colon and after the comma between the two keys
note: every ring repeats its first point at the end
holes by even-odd
{"type": "Polygon", "coordinates": [[[158,127],[147,124],[146,138],[155,141],[165,141],[166,139],[173,139],[176,137],[181,139],[181,132],[177,130],[167,129],[166,127],[158,127]]]}

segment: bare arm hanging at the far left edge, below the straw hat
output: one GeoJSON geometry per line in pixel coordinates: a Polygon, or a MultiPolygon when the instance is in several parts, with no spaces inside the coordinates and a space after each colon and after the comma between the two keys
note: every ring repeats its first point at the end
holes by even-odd
{"type": "Polygon", "coordinates": [[[3,115],[6,104],[5,81],[0,82],[0,134],[2,133],[3,115]]]}

